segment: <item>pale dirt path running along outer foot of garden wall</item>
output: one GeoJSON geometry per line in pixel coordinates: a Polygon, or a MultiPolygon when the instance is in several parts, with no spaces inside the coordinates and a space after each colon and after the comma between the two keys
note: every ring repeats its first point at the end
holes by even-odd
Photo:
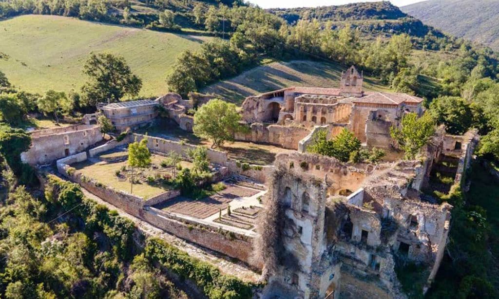
{"type": "Polygon", "coordinates": [[[220,271],[224,274],[233,275],[244,281],[251,281],[251,282],[256,282],[260,277],[258,273],[251,271],[241,262],[233,262],[230,260],[230,258],[218,254],[214,251],[201,248],[200,246],[197,246],[192,243],[188,243],[181,238],[166,233],[165,231],[151,225],[150,223],[144,220],[141,220],[135,216],[132,216],[120,210],[116,206],[90,193],[83,187],[81,187],[81,190],[83,191],[83,194],[86,197],[95,200],[99,204],[107,206],[111,210],[116,210],[120,216],[126,217],[131,221],[133,221],[137,226],[137,229],[139,229],[139,231],[144,235],[148,237],[161,238],[166,242],[168,242],[169,244],[176,246],[180,250],[187,252],[190,256],[208,262],[210,264],[213,264],[214,266],[218,267],[220,271]]]}

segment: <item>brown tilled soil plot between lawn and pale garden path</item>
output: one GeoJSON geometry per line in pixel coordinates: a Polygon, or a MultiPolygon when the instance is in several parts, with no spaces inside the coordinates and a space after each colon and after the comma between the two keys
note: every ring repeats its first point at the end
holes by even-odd
{"type": "Polygon", "coordinates": [[[203,199],[195,200],[179,196],[157,205],[156,208],[171,213],[204,219],[218,213],[221,209],[227,209],[229,203],[234,199],[249,197],[258,192],[258,190],[229,185],[226,189],[203,199]]]}

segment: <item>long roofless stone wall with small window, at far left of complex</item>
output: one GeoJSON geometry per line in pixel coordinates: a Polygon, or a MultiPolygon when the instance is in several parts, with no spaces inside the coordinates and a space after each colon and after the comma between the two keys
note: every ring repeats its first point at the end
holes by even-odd
{"type": "Polygon", "coordinates": [[[31,165],[51,163],[80,152],[101,140],[102,134],[98,125],[34,131],[31,133],[31,147],[21,153],[21,160],[31,165]]]}

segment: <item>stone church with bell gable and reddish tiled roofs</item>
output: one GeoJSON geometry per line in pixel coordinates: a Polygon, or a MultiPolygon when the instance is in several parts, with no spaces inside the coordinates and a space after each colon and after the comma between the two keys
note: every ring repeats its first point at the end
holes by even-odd
{"type": "Polygon", "coordinates": [[[390,128],[400,126],[404,113],[421,115],[423,99],[364,92],[362,83],[363,74],[352,66],[342,74],[339,88],[290,87],[248,97],[242,107],[243,119],[253,125],[272,123],[309,130],[325,125],[331,130],[347,127],[366,146],[389,148],[393,146],[390,128]]]}

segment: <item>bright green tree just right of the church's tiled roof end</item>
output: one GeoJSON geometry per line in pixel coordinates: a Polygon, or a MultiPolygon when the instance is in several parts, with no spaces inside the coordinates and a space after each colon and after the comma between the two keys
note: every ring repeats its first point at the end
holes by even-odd
{"type": "Polygon", "coordinates": [[[428,144],[435,133],[435,121],[430,113],[418,117],[416,113],[409,113],[402,117],[401,129],[390,128],[391,137],[405,151],[406,159],[414,159],[416,154],[428,144]]]}

